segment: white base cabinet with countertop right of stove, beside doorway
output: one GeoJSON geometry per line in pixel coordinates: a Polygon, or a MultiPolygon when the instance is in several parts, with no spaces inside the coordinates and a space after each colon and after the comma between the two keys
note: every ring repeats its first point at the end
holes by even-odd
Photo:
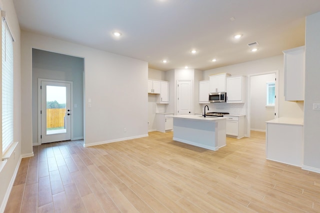
{"type": "Polygon", "coordinates": [[[245,133],[245,115],[229,116],[224,115],[225,121],[225,134],[227,136],[235,137],[237,139],[243,138],[245,133]]]}

